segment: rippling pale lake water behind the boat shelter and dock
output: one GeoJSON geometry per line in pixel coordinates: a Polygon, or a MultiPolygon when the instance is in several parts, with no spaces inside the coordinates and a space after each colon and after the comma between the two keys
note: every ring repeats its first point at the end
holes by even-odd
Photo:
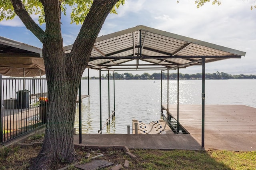
{"type": "MultiPolygon", "coordinates": [[[[162,81],[162,103],[167,104],[167,80],[162,81]]],[[[247,105],[256,108],[256,79],[206,80],[206,105],[247,105]]],[[[110,80],[110,114],[114,110],[114,87],[110,80]]],[[[116,116],[102,133],[126,134],[132,119],[150,123],[160,119],[160,80],[116,80],[116,116]]],[[[202,80],[180,80],[180,104],[202,104],[202,80]]],[[[88,94],[88,80],[82,80],[82,95],[88,94]]],[[[82,133],[100,129],[99,80],[90,80],[90,103],[82,103],[82,133]]],[[[169,81],[169,104],[177,103],[177,81],[169,81]]],[[[102,126],[108,119],[108,81],[102,80],[102,126]]],[[[78,130],[78,107],[75,127],[78,130]]]]}

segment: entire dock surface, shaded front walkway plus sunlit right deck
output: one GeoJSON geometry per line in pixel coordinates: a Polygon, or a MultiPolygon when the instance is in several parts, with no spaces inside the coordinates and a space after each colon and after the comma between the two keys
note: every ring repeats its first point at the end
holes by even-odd
{"type": "MultiPolygon", "coordinates": [[[[176,117],[177,106],[169,105],[169,111],[176,117]]],[[[206,105],[204,148],[201,147],[202,106],[180,105],[179,115],[180,124],[189,134],[82,134],[82,145],[164,150],[256,150],[256,108],[206,105]]],[[[78,137],[74,135],[76,144],[78,137]]]]}

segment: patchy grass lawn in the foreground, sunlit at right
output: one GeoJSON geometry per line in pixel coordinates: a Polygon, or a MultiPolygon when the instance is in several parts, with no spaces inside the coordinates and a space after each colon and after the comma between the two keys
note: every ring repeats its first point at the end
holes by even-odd
{"type": "MultiPolygon", "coordinates": [[[[20,148],[19,146],[0,148],[0,170],[25,170],[29,167],[31,158],[37,156],[40,150],[38,147],[20,148]]],[[[76,150],[83,163],[90,162],[84,157],[87,152],[96,156],[104,152],[104,156],[98,159],[107,160],[114,164],[124,165],[124,161],[130,161],[130,170],[254,170],[256,167],[256,151],[235,152],[225,150],[130,150],[136,155],[132,159],[122,150],[76,150]]],[[[58,169],[65,164],[57,164],[53,169],[58,169]]],[[[70,170],[76,170],[74,166],[70,170]]],[[[108,170],[109,168],[105,168],[108,170]]]]}

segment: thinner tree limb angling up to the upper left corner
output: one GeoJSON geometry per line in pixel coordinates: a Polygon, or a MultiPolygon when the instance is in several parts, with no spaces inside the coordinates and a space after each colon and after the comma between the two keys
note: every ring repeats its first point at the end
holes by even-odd
{"type": "Polygon", "coordinates": [[[20,20],[26,26],[28,30],[30,30],[39,40],[40,42],[44,42],[44,30],[40,28],[34,20],[30,17],[25,7],[23,6],[20,0],[10,0],[12,2],[12,6],[14,8],[15,13],[18,15],[20,20]]]}

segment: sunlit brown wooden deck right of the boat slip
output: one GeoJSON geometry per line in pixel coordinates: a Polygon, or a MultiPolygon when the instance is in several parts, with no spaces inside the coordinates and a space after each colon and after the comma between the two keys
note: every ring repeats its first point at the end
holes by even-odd
{"type": "MultiPolygon", "coordinates": [[[[167,108],[167,105],[164,107],[167,108]]],[[[169,105],[169,111],[177,119],[177,106],[169,105]]],[[[179,122],[201,143],[202,105],[180,105],[179,122]]],[[[256,108],[206,105],[204,144],[205,148],[256,150],[256,108]]]]}

